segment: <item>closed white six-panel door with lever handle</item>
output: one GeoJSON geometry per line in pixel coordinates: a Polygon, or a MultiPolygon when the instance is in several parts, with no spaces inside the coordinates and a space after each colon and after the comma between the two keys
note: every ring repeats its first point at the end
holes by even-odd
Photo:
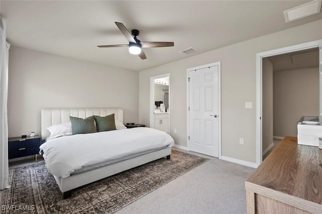
{"type": "Polygon", "coordinates": [[[189,71],[189,150],[218,157],[218,66],[189,71]]]}

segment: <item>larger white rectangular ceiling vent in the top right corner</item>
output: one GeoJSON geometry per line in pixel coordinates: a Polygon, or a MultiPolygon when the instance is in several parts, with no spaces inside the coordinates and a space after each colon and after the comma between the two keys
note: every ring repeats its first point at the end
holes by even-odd
{"type": "Polygon", "coordinates": [[[304,5],[284,11],[285,22],[291,22],[321,12],[321,1],[314,0],[304,5]]]}

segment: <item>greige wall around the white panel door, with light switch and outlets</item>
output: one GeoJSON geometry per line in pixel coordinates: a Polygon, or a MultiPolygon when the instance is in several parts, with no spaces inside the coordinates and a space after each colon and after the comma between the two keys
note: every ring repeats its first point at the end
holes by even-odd
{"type": "MultiPolygon", "coordinates": [[[[188,68],[221,61],[222,155],[256,162],[256,54],[322,39],[322,20],[219,48],[139,73],[139,122],[149,124],[149,80],[171,73],[170,134],[187,146],[188,68]],[[167,72],[165,72],[167,71],[167,72]],[[245,109],[253,102],[253,109],[245,109]],[[174,133],[177,129],[177,133],[174,133]],[[245,144],[239,144],[245,138],[245,144]]],[[[196,47],[197,48],[197,47],[196,47]]]]}

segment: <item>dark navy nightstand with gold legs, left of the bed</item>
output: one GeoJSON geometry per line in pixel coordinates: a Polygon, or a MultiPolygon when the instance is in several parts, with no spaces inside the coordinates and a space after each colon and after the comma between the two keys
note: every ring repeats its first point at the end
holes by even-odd
{"type": "Polygon", "coordinates": [[[8,159],[35,155],[37,162],[37,154],[41,145],[41,137],[35,135],[33,137],[11,137],[8,138],[8,159]]]}

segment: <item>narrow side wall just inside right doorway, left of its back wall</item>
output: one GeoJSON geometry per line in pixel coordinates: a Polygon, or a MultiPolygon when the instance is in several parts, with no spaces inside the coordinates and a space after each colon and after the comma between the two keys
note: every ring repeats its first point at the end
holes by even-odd
{"type": "Polygon", "coordinates": [[[273,65],[263,59],[262,75],[262,151],[273,143],[273,65]]]}

